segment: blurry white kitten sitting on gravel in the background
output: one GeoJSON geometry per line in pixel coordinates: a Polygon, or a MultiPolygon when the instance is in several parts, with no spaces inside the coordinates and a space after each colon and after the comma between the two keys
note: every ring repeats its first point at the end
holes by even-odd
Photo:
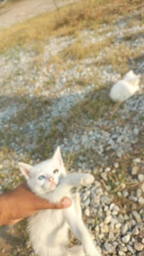
{"type": "Polygon", "coordinates": [[[123,80],[117,81],[110,90],[110,98],[113,101],[124,101],[131,97],[139,90],[139,75],[135,75],[133,70],[130,70],[124,76],[123,80]]]}

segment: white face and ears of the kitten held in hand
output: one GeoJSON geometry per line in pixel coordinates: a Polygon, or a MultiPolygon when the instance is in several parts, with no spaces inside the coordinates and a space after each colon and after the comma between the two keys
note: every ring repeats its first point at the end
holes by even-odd
{"type": "Polygon", "coordinates": [[[51,159],[35,166],[19,163],[19,167],[27,179],[28,186],[43,198],[46,198],[46,195],[57,187],[61,177],[66,175],[59,147],[51,159]]]}

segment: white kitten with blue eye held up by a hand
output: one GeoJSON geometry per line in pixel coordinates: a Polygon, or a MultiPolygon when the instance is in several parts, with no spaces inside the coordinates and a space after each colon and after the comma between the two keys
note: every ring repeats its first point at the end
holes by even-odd
{"type": "Polygon", "coordinates": [[[74,186],[91,184],[94,177],[85,173],[66,176],[59,147],[51,159],[34,167],[19,163],[19,167],[36,195],[53,203],[59,202],[64,196],[72,199],[69,208],[41,210],[28,218],[29,236],[35,253],[39,256],[100,256],[81,219],[79,195],[72,196],[70,192],[74,186]],[[69,227],[82,246],[66,249],[69,227]]]}

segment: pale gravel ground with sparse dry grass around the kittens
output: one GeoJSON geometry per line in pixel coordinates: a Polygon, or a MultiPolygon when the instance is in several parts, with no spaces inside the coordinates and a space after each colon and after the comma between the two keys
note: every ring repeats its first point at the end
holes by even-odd
{"type": "MultiPolygon", "coordinates": [[[[52,145],[53,150],[60,144],[66,163],[69,157],[77,156],[68,162],[70,172],[95,175],[93,185],[79,189],[81,206],[95,244],[102,255],[109,256],[144,255],[144,26],[129,28],[132,19],[132,15],[120,17],[109,32],[104,25],[99,31],[84,30],[80,38],[85,39],[84,44],[95,44],[114,37],[114,47],[133,32],[135,36],[126,45],[140,47],[140,57],[131,58],[129,67],[141,76],[140,92],[120,106],[113,105],[101,117],[92,119],[83,114],[80,123],[72,124],[61,138],[56,136],[52,145]]],[[[15,48],[0,56],[1,193],[21,180],[18,161],[33,164],[43,159],[41,152],[36,153],[38,141],[49,138],[56,120],[67,122],[72,109],[100,83],[109,92],[121,78],[121,70],[116,72],[112,65],[97,65],[111,50],[109,46],[97,58],[68,59],[60,64],[51,61],[76,40],[72,36],[53,37],[42,53],[35,54],[32,47],[27,51],[15,48]],[[82,80],[87,81],[83,86],[79,83],[82,80]]],[[[95,102],[101,97],[95,90],[95,102]]],[[[63,130],[61,122],[58,129],[63,130]]],[[[22,225],[16,226],[18,236],[22,225]]],[[[17,247],[7,249],[7,244],[9,240],[2,243],[1,255],[10,255],[8,250],[11,255],[34,255],[27,235],[17,247]]]]}

